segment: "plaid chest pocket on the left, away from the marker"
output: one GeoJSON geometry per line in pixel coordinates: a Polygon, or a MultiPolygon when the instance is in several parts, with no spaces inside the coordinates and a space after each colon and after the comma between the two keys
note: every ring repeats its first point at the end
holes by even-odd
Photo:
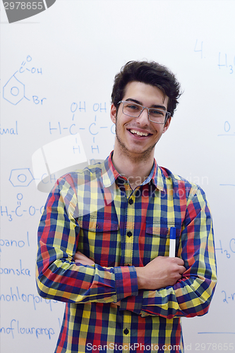
{"type": "Polygon", "coordinates": [[[104,219],[78,219],[78,248],[85,256],[102,267],[114,267],[121,255],[119,222],[104,219]]]}

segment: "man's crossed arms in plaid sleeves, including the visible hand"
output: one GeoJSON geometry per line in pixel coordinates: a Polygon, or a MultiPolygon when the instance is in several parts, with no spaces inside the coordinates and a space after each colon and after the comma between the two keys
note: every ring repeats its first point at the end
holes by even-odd
{"type": "Polygon", "coordinates": [[[54,192],[39,227],[38,292],[47,299],[76,303],[121,300],[122,310],[143,316],[203,315],[216,284],[212,221],[199,191],[191,198],[181,229],[180,258],[158,256],[144,267],[102,268],[76,252],[73,208],[67,212],[61,192],[54,192]]]}

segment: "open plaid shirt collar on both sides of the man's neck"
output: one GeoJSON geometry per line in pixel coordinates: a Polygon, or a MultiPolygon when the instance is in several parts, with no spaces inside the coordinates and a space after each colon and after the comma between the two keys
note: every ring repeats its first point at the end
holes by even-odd
{"type": "MultiPolygon", "coordinates": [[[[107,157],[107,159],[104,160],[104,163],[102,164],[102,181],[104,184],[104,188],[109,188],[110,186],[112,186],[115,180],[118,177],[120,177],[119,172],[117,172],[112,162],[112,155],[113,155],[113,151],[110,153],[109,157],[107,157]]],[[[147,179],[145,179],[145,181],[143,182],[143,185],[150,183],[151,180],[153,184],[155,184],[157,189],[159,189],[160,191],[163,191],[164,189],[163,174],[162,174],[162,170],[157,165],[156,160],[154,160],[154,164],[152,166],[150,175],[147,177],[147,179]]]]}

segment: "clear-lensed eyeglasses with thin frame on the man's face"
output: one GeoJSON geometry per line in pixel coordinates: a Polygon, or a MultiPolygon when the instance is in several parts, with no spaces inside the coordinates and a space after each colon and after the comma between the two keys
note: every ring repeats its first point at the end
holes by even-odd
{"type": "Polygon", "coordinates": [[[133,118],[138,118],[140,114],[143,112],[143,110],[147,109],[148,119],[152,121],[152,123],[165,124],[167,121],[167,118],[171,115],[171,113],[166,112],[163,109],[147,108],[147,107],[143,107],[143,105],[140,105],[131,101],[120,100],[118,104],[121,104],[121,103],[123,103],[123,106],[122,106],[123,114],[128,116],[133,116],[133,118]]]}

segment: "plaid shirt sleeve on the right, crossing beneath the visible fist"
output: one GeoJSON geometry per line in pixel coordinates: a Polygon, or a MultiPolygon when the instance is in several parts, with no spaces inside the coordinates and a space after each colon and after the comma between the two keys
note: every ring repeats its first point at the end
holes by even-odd
{"type": "Polygon", "coordinates": [[[174,286],[141,290],[138,297],[121,301],[121,310],[141,316],[202,316],[209,310],[217,282],[215,244],[212,217],[205,193],[191,189],[186,216],[181,229],[178,257],[184,261],[186,272],[174,286]]]}

